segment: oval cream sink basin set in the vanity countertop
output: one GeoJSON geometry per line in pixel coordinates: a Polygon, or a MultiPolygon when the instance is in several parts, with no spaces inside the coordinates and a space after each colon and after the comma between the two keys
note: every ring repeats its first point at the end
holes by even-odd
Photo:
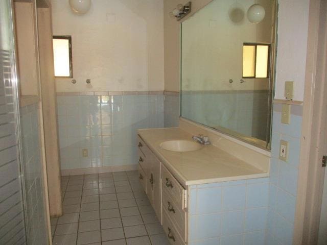
{"type": "Polygon", "coordinates": [[[168,140],[162,142],[160,148],[173,152],[192,152],[200,150],[202,145],[191,140],[168,140]]]}

